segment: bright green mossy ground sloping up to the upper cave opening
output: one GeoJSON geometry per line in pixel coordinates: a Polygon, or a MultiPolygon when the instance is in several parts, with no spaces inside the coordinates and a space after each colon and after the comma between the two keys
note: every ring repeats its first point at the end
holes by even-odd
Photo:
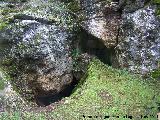
{"type": "MultiPolygon", "coordinates": [[[[53,112],[39,113],[42,119],[91,119],[98,116],[130,115],[140,119],[140,115],[150,116],[145,120],[156,120],[158,103],[160,103],[160,81],[146,81],[125,70],[117,70],[94,59],[87,74],[77,85],[72,95],[65,98],[53,112]]],[[[28,113],[31,114],[31,113],[28,113]]],[[[116,119],[115,117],[110,117],[116,119]]],[[[37,118],[38,120],[38,118],[37,118]]]]}

